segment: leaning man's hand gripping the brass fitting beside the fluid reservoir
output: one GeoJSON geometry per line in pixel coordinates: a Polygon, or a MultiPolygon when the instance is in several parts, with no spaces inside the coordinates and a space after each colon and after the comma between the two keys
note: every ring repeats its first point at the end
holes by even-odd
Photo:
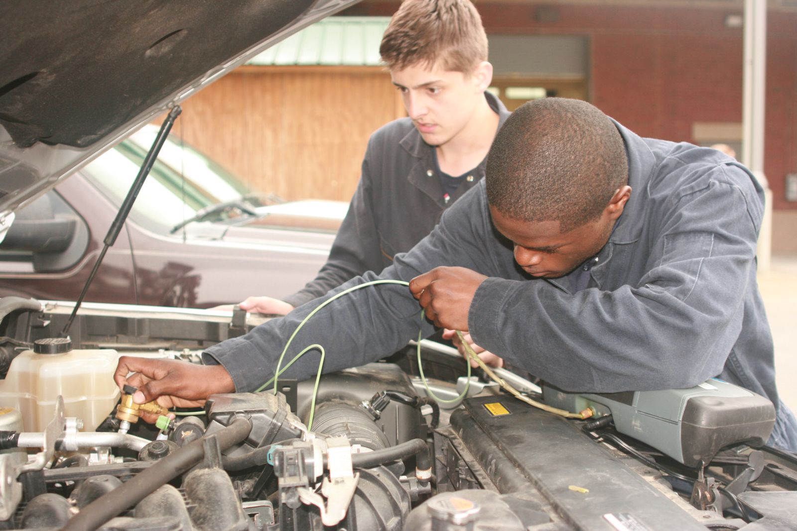
{"type": "MultiPolygon", "coordinates": [[[[235,392],[235,384],[222,365],[194,365],[186,361],[122,356],[113,375],[116,385],[138,388],[136,404],[156,400],[165,408],[202,407],[205,399],[220,392],[235,392]],[[133,373],[128,377],[129,373],[133,373]]],[[[141,418],[155,422],[158,416],[141,418]]]]}

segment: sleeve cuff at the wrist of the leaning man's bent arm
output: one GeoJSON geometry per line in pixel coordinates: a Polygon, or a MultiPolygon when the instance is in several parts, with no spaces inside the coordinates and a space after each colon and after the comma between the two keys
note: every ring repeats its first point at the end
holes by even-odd
{"type": "Polygon", "coordinates": [[[490,277],[477,288],[468,310],[470,337],[478,346],[491,352],[506,352],[499,322],[517,282],[490,277]]]}

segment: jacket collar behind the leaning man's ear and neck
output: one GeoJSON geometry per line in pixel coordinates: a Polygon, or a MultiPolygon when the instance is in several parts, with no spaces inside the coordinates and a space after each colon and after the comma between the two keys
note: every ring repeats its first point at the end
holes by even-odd
{"type": "Polygon", "coordinates": [[[623,127],[616,120],[612,119],[612,122],[620,131],[622,142],[626,145],[628,185],[631,187],[631,197],[626,202],[625,208],[622,209],[622,216],[614,225],[609,242],[630,244],[638,240],[642,233],[642,219],[644,219],[643,214],[648,195],[647,188],[650,176],[656,167],[656,158],[642,137],[623,127]]]}

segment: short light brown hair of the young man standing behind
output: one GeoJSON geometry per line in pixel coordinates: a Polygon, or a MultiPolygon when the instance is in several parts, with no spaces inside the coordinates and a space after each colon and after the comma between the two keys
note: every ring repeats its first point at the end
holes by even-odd
{"type": "Polygon", "coordinates": [[[487,61],[487,35],[470,0],[404,0],[379,46],[391,70],[439,64],[465,74],[487,61]]]}

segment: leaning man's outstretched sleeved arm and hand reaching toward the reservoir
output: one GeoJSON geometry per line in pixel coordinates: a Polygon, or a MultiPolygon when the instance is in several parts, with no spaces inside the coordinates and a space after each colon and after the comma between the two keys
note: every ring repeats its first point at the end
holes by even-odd
{"type": "MultiPolygon", "coordinates": [[[[253,391],[273,377],[277,360],[300,322],[324,300],[347,287],[370,280],[398,279],[408,282],[443,264],[457,264],[484,271],[487,267],[485,263],[489,263],[492,256],[489,252],[477,252],[479,246],[474,232],[484,233],[487,225],[489,214],[484,190],[480,186],[448,209],[441,225],[430,236],[406,255],[397,256],[396,263],[381,275],[368,272],[336,288],[324,298],[296,308],[285,318],[272,319],[249,334],[207,349],[203,358],[206,363],[221,365],[210,369],[219,371],[218,374],[188,373],[188,369],[182,366],[158,367],[148,360],[141,360],[139,365],[128,363],[124,369],[120,365],[117,383],[124,383],[128,372],[140,369],[147,378],[167,380],[163,385],[155,385],[154,389],[150,385],[148,389],[152,393],[147,395],[147,400],[159,392],[167,393],[171,398],[198,400],[213,392],[253,391]],[[223,374],[220,372],[222,368],[226,369],[223,374]],[[222,378],[226,385],[217,387],[215,378],[222,378]],[[194,379],[198,381],[192,381],[194,379]],[[199,382],[202,380],[207,382],[199,382]]],[[[419,327],[424,337],[434,331],[430,322],[422,318],[421,306],[406,286],[365,287],[336,299],[315,314],[293,338],[281,366],[288,365],[304,347],[316,343],[323,346],[326,352],[324,372],[363,365],[394,353],[405,346],[408,340],[418,338],[419,327]]],[[[285,377],[311,377],[315,375],[319,362],[319,352],[311,350],[287,370],[285,377]]]]}

